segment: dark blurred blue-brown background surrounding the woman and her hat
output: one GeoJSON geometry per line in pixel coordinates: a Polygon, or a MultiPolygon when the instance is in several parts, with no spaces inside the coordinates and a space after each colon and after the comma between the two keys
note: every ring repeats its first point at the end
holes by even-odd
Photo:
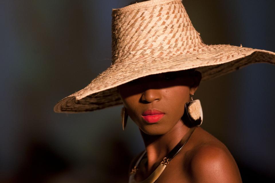
{"type": "MultiPolygon", "coordinates": [[[[111,11],[132,0],[0,0],[0,182],[127,182],[144,150],[121,106],[56,114],[62,98],[111,64],[111,11]]],[[[275,51],[275,1],[183,0],[206,44],[275,51]]],[[[235,158],[243,182],[275,180],[275,66],[201,83],[202,128],[235,158]]]]}

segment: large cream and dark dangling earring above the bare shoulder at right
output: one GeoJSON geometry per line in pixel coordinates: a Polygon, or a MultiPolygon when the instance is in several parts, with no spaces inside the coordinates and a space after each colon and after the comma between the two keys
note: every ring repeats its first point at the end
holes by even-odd
{"type": "Polygon", "coordinates": [[[190,94],[191,101],[185,104],[184,114],[182,116],[184,123],[189,128],[193,126],[199,127],[203,123],[203,110],[201,108],[201,102],[198,99],[193,100],[193,95],[194,94],[190,94]]]}

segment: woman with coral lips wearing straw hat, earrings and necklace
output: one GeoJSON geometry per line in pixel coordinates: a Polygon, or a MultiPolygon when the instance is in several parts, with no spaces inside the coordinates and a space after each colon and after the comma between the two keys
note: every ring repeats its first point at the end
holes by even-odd
{"type": "Polygon", "coordinates": [[[204,44],[178,0],[136,3],[112,16],[111,67],[54,111],[123,104],[123,127],[129,114],[146,146],[132,162],[129,182],[241,182],[227,148],[196,127],[203,116],[189,96],[201,80],[254,62],[274,63],[275,53],[204,44]]]}

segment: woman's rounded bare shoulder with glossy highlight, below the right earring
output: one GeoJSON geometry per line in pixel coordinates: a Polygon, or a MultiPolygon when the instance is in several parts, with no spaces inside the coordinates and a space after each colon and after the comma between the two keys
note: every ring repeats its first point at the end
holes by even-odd
{"type": "Polygon", "coordinates": [[[192,150],[190,173],[193,182],[242,182],[238,166],[226,146],[206,131],[192,150]],[[206,139],[206,140],[205,140],[206,139]]]}

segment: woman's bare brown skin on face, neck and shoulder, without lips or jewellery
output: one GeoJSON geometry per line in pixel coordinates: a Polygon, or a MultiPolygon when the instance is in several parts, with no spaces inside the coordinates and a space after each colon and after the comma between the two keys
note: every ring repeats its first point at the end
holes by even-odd
{"type": "MultiPolygon", "coordinates": [[[[118,87],[129,117],[140,128],[147,158],[139,164],[135,180],[145,180],[162,159],[188,132],[181,117],[184,105],[190,101],[201,81],[201,73],[194,70],[161,73],[136,79],[118,87]],[[154,124],[141,114],[148,109],[164,112],[154,124]]],[[[130,169],[140,157],[131,163],[130,169]]],[[[197,127],[183,149],[171,160],[156,183],[161,182],[241,182],[237,164],[217,138],[197,127]]]]}

